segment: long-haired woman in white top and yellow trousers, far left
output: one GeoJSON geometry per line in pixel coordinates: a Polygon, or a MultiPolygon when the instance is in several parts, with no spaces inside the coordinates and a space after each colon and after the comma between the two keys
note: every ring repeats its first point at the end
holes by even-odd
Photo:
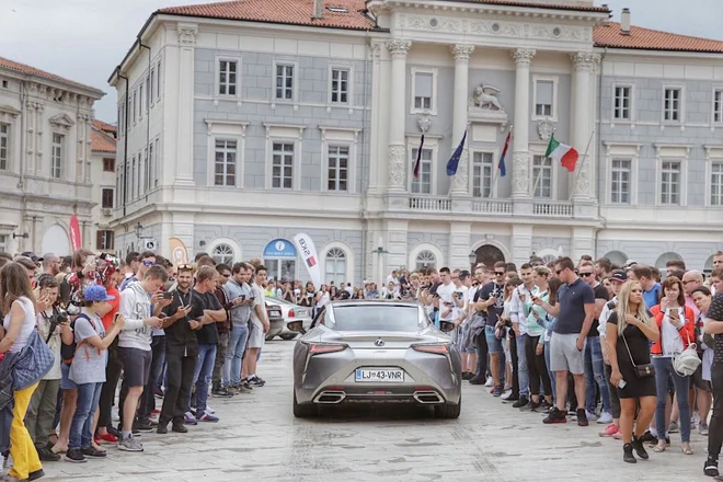
{"type": "MultiPolygon", "coordinates": [[[[35,330],[35,297],[31,288],[27,272],[18,263],[8,263],[0,272],[0,300],[2,312],[7,313],[2,323],[4,329],[0,341],[0,353],[22,351],[35,330]]],[[[37,456],[33,439],[25,428],[27,405],[37,383],[13,391],[15,406],[10,427],[10,455],[13,468],[10,475],[18,480],[35,480],[44,475],[43,464],[37,456]]]]}

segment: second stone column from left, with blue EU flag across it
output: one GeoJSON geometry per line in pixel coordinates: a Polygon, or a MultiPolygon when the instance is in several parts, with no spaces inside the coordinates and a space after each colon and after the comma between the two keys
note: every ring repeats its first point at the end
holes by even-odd
{"type": "MultiPolygon", "coordinates": [[[[455,99],[452,101],[454,116],[452,116],[452,145],[451,152],[457,149],[462,136],[467,130],[467,103],[469,99],[469,70],[470,70],[470,55],[474,51],[473,45],[457,44],[450,47],[452,57],[455,58],[455,99]]],[[[452,177],[451,195],[460,196],[469,194],[469,164],[468,154],[469,150],[464,142],[464,150],[459,158],[459,165],[457,167],[457,174],[452,177]]],[[[450,154],[451,154],[450,152],[450,154]]]]}

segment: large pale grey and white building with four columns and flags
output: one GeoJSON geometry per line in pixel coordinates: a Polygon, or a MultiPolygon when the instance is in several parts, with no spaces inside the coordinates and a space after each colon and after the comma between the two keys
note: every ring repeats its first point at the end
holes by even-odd
{"type": "Polygon", "coordinates": [[[470,253],[703,268],[723,248],[723,43],[647,45],[592,1],[288,3],[294,22],[252,0],[146,24],[111,78],[118,251],[177,237],[303,279],[307,232],[326,282],[359,283],[470,253]],[[575,172],[544,157],[552,133],[575,172]]]}

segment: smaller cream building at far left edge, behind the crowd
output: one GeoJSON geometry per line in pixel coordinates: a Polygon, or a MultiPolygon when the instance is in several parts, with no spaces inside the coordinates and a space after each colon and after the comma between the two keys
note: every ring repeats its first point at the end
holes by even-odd
{"type": "Polygon", "coordinates": [[[103,92],[0,58],[0,251],[71,254],[92,236],[93,103],[103,92]]]}

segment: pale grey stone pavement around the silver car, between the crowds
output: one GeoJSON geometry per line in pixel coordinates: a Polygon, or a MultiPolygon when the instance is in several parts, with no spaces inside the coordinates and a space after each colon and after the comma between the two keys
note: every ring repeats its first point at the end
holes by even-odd
{"type": "Polygon", "coordinates": [[[260,372],[266,387],[230,400],[211,399],[221,421],[186,435],[145,434],[146,451],[110,448],[106,460],[47,463],[44,481],[705,481],[705,438],[695,456],[679,435],[650,461],[622,462],[618,440],[601,425],[544,426],[542,415],[503,404],[484,387],[464,383],[462,414],[433,418],[426,410],[330,410],[317,420],[291,414],[295,342],[266,344],[260,372]]]}

